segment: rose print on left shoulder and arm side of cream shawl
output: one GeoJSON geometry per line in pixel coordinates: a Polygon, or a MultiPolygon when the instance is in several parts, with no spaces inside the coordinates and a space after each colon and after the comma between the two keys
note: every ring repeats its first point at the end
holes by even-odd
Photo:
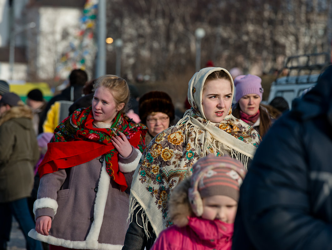
{"type": "MultiPolygon", "coordinates": [[[[170,127],[159,133],[150,142],[139,163],[139,180],[145,183],[145,189],[154,198],[163,219],[168,218],[167,198],[170,190],[175,183],[191,174],[191,166],[200,158],[200,152],[196,151],[192,143],[184,144],[183,128],[184,125],[170,127]],[[166,166],[171,166],[171,170],[167,171],[170,168],[166,166]]],[[[194,134],[189,136],[195,137],[194,134]]]]}

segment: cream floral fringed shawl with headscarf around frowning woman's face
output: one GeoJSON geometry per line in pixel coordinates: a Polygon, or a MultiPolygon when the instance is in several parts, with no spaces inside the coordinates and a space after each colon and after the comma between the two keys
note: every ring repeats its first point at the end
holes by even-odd
{"type": "MultiPolygon", "coordinates": [[[[260,143],[257,132],[232,116],[231,108],[221,123],[206,119],[201,104],[204,82],[209,74],[220,70],[230,76],[223,68],[205,68],[192,77],[188,88],[191,110],[187,110],[175,126],[152,139],[133,175],[130,218],[133,219],[133,210],[140,205],[144,216],[147,216],[144,218],[145,228],[150,221],[157,236],[172,224],[169,221],[168,195],[180,181],[192,174],[193,163],[207,154],[229,154],[246,166],[260,143]]],[[[233,97],[234,84],[231,82],[233,97]]]]}

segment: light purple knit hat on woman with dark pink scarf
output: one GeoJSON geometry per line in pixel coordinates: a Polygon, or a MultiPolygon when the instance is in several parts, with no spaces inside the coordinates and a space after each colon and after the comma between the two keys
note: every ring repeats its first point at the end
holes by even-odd
{"type": "Polygon", "coordinates": [[[243,95],[246,94],[258,94],[261,97],[263,95],[262,79],[254,75],[241,75],[234,79],[235,85],[235,101],[238,102],[243,95]]]}

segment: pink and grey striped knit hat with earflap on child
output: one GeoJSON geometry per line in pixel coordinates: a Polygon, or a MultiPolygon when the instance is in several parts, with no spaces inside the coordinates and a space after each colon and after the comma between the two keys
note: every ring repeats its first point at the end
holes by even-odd
{"type": "Polygon", "coordinates": [[[188,190],[189,202],[196,216],[203,214],[202,198],[225,195],[238,201],[245,174],[242,163],[229,156],[210,154],[198,160],[193,165],[191,187],[188,190]]]}

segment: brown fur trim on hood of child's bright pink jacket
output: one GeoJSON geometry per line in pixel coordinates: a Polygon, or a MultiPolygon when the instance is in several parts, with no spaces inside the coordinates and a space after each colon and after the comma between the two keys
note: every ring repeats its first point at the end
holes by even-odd
{"type": "Polygon", "coordinates": [[[189,188],[190,178],[186,178],[176,186],[169,198],[170,219],[179,227],[186,226],[188,217],[194,216],[188,199],[189,188]]]}

